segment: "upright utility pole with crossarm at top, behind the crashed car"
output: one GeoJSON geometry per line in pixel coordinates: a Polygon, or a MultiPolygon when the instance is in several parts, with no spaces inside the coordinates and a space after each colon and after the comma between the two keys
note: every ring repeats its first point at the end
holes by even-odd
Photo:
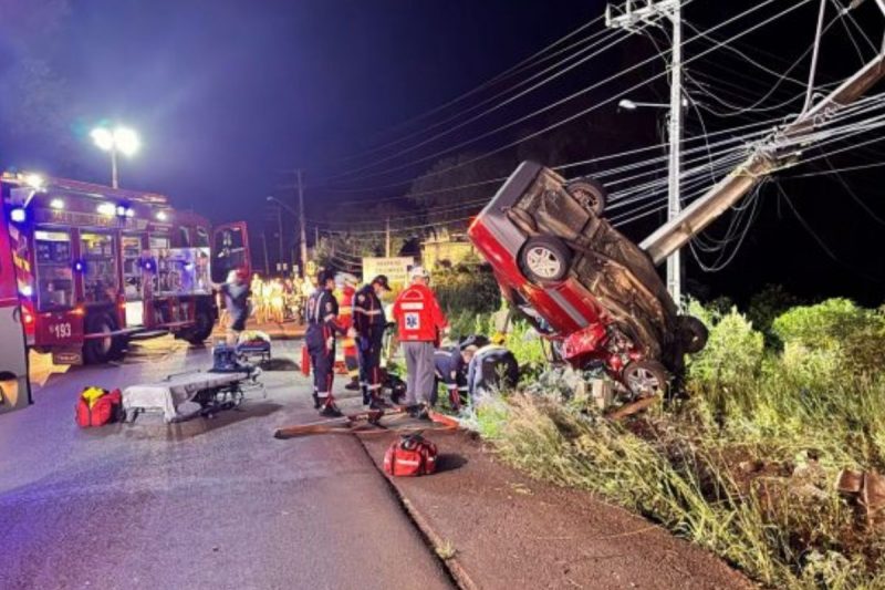
{"type": "MultiPolygon", "coordinates": [[[[667,183],[667,220],[681,211],[683,172],[683,0],[647,0],[637,6],[636,0],[626,0],[622,10],[608,4],[605,24],[610,28],[636,31],[637,24],[668,18],[673,22],[673,58],[670,63],[670,116],[669,116],[669,180],[667,183]]],[[[667,258],[667,291],[677,306],[683,299],[681,253],[674,250],[667,258]]]]}

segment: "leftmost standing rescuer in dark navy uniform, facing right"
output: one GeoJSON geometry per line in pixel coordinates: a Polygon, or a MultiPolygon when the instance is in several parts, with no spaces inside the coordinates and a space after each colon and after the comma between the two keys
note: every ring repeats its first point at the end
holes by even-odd
{"type": "Polygon", "coordinates": [[[313,366],[313,404],[323,416],[341,416],[332,395],[335,369],[335,334],[353,337],[339,323],[339,302],[332,291],[335,276],[321,271],[316,278],[316,290],[308,300],[308,332],[304,341],[313,366]]]}

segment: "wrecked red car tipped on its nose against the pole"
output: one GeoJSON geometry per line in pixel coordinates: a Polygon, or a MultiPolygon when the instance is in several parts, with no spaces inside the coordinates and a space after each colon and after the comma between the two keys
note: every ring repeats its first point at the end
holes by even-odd
{"type": "Polygon", "coordinates": [[[664,394],[707,330],[679,315],[648,255],[601,217],[605,196],[592,178],[524,162],[469,237],[562,360],[604,370],[633,397],[664,394]]]}

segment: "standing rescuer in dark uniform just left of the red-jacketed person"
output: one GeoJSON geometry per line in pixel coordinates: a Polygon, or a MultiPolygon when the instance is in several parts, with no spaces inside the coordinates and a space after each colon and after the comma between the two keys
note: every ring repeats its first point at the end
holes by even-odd
{"type": "Polygon", "coordinates": [[[381,398],[381,353],[384,349],[384,330],[387,318],[381,293],[389,291],[387,277],[378,275],[372,282],[360,289],[354,300],[354,328],[360,352],[360,386],[363,390],[363,404],[372,410],[382,407],[381,398]]]}

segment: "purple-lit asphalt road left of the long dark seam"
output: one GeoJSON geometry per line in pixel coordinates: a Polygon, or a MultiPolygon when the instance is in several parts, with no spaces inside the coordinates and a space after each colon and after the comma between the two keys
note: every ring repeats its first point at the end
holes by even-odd
{"type": "Polygon", "coordinates": [[[33,406],[0,415],[0,588],[451,587],[356,441],[272,438],[316,420],[293,371],[264,373],[267,398],[212,421],[74,425],[84,385],[208,365],[165,339],[52,375],[33,406]]]}

